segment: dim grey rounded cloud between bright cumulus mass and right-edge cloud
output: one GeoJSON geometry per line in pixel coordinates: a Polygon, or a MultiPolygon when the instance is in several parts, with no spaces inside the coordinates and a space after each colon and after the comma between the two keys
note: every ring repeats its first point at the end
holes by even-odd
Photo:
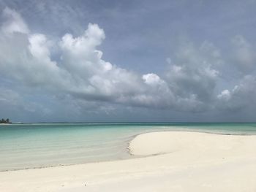
{"type": "Polygon", "coordinates": [[[219,64],[222,64],[219,50],[208,42],[200,47],[185,42],[176,51],[167,71],[167,83],[188,110],[205,110],[214,99],[219,64]]]}

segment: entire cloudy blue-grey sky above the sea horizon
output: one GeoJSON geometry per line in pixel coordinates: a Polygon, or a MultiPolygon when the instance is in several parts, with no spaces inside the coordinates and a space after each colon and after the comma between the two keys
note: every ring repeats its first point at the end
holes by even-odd
{"type": "Polygon", "coordinates": [[[0,118],[255,122],[256,1],[0,0],[0,118]]]}

